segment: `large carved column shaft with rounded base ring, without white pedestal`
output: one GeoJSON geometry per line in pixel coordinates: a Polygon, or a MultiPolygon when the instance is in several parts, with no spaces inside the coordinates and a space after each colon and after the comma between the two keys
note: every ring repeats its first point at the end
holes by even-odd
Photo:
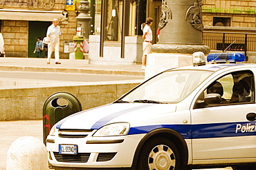
{"type": "Polygon", "coordinates": [[[162,0],[162,14],[158,27],[159,42],[153,52],[192,54],[210,52],[203,45],[202,0],[162,0]]]}

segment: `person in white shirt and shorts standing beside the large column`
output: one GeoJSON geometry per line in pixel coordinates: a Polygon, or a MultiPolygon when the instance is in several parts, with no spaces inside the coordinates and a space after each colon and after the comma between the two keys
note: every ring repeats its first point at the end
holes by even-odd
{"type": "Polygon", "coordinates": [[[152,47],[152,30],[150,26],[153,23],[153,19],[151,17],[148,17],[146,19],[146,25],[143,28],[143,60],[142,60],[142,67],[141,69],[146,68],[147,64],[147,54],[151,53],[151,47],[152,47]]]}

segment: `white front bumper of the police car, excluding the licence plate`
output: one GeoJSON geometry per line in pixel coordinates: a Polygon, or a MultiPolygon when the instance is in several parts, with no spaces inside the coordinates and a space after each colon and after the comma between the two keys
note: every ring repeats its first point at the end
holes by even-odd
{"type": "Polygon", "coordinates": [[[144,136],[145,134],[86,138],[48,136],[48,160],[56,167],[131,167],[138,143],[144,136]],[[77,145],[78,153],[59,154],[59,145],[77,145]]]}

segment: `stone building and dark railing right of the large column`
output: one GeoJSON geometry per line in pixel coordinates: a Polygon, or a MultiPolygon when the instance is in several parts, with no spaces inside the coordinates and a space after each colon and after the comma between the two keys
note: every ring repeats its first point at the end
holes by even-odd
{"type": "Polygon", "coordinates": [[[256,1],[204,0],[204,43],[211,50],[243,52],[255,63],[256,1]]]}

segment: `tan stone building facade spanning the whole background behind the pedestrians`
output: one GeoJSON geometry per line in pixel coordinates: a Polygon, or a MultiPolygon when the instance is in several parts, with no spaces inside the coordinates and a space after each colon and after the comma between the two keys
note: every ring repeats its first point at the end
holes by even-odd
{"type": "MultiPolygon", "coordinates": [[[[202,1],[205,31],[256,33],[256,0],[202,1]]],[[[156,30],[161,16],[162,0],[90,2],[95,9],[91,10],[91,34],[94,36],[90,42],[93,47],[91,61],[98,58],[99,61],[140,63],[142,24],[147,17],[154,19],[153,42],[157,43],[156,30]]],[[[35,57],[33,50],[36,37],[42,36],[43,39],[48,25],[57,18],[62,29],[60,57],[67,59],[68,52],[65,52],[64,46],[66,42],[73,41],[76,34],[78,6],[79,3],[75,0],[0,0],[0,32],[5,41],[6,56],[35,57]]]]}

